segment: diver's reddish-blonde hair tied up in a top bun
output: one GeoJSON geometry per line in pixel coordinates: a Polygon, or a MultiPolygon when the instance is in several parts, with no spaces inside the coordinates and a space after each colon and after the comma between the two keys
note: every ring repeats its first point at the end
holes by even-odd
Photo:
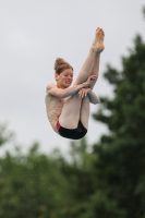
{"type": "Polygon", "coordinates": [[[57,60],[55,61],[55,71],[56,71],[56,73],[60,74],[65,69],[72,69],[73,70],[73,68],[70,65],[70,63],[64,61],[62,58],[57,58],[57,60]]]}

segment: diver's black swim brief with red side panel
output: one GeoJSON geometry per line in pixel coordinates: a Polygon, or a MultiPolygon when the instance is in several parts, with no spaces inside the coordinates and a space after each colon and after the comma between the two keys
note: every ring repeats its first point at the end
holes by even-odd
{"type": "Polygon", "coordinates": [[[84,128],[84,125],[82,124],[81,121],[78,121],[78,125],[76,129],[65,129],[62,128],[59,123],[59,121],[57,122],[57,130],[59,132],[59,134],[62,137],[67,137],[70,140],[80,140],[82,137],[84,137],[87,133],[87,130],[84,128]]]}

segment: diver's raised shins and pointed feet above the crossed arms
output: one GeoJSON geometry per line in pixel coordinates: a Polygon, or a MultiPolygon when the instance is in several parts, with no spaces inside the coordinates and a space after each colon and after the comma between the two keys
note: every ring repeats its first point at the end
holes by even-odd
{"type": "Polygon", "coordinates": [[[97,28],[94,43],[74,85],[84,83],[92,74],[98,74],[100,52],[105,49],[104,37],[104,31],[101,28],[97,28]]]}

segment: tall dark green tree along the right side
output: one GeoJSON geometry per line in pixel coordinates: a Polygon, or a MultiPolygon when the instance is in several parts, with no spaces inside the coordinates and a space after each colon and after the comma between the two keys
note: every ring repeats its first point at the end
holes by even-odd
{"type": "Polygon", "coordinates": [[[145,218],[145,43],[137,35],[119,71],[107,65],[113,97],[100,98],[94,119],[109,133],[94,145],[95,193],[86,217],[145,218]]]}

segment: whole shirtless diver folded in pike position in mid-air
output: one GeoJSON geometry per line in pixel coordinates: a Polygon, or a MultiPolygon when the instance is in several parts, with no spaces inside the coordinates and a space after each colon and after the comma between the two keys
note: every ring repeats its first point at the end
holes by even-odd
{"type": "Polygon", "coordinates": [[[45,100],[48,120],[56,133],[63,137],[80,140],[87,133],[89,102],[99,102],[92,89],[98,78],[99,58],[105,49],[104,37],[102,28],[98,27],[88,56],[72,87],[73,68],[63,59],[56,60],[57,85],[48,84],[45,100]]]}

